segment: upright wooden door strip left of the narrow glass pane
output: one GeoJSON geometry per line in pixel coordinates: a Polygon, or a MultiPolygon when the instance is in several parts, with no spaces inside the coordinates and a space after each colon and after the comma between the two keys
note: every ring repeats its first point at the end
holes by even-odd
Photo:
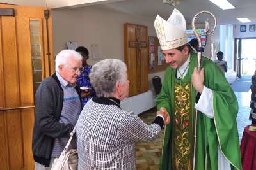
{"type": "MultiPolygon", "coordinates": [[[[33,72],[31,61],[31,41],[29,18],[19,15],[17,19],[17,45],[19,53],[19,76],[20,76],[20,106],[33,106],[33,72]],[[27,43],[22,43],[26,41],[27,43]]],[[[24,157],[25,169],[33,169],[34,164],[32,146],[33,122],[34,122],[34,109],[20,110],[21,124],[22,124],[22,153],[24,157]]]]}

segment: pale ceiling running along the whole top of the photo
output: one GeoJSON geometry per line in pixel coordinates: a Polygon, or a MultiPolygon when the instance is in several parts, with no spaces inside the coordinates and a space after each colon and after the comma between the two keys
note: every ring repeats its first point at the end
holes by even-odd
{"type": "MultiPolygon", "coordinates": [[[[256,23],[256,0],[228,0],[236,9],[221,10],[220,7],[209,0],[175,0],[180,1],[177,8],[186,18],[187,24],[198,11],[211,11],[217,18],[218,24],[242,24],[236,18],[249,18],[256,23]]],[[[219,0],[222,1],[222,0],[219,0]]],[[[2,0],[2,3],[47,6],[49,8],[77,8],[83,6],[97,6],[129,15],[154,20],[157,14],[167,19],[173,11],[173,6],[164,4],[163,0],[2,0]]],[[[205,18],[198,18],[199,23],[204,23],[205,18]]],[[[198,23],[196,23],[198,24],[198,23]]]]}

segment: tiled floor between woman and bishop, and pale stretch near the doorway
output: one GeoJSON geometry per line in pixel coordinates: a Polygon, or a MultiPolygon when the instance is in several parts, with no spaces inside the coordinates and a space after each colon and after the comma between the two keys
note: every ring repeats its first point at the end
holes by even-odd
{"type": "MultiPolygon", "coordinates": [[[[237,115],[237,127],[239,141],[243,136],[243,130],[250,124],[248,120],[250,114],[250,94],[251,92],[235,92],[239,103],[239,112],[237,115]]],[[[155,110],[147,111],[140,115],[140,118],[147,124],[151,124],[156,114],[155,110]]],[[[159,159],[161,157],[161,148],[163,145],[163,131],[154,143],[138,143],[136,145],[136,164],[137,169],[159,169],[159,159]]]]}

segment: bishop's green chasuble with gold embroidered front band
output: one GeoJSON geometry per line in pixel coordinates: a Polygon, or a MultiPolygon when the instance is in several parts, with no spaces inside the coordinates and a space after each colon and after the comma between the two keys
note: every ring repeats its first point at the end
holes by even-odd
{"type": "MultiPolygon", "coordinates": [[[[171,119],[164,131],[160,164],[163,170],[190,170],[193,167],[196,91],[191,84],[191,74],[196,65],[196,53],[191,53],[188,73],[182,80],[176,78],[176,69],[168,67],[157,97],[157,110],[166,108],[171,119]]],[[[223,73],[210,59],[203,57],[202,67],[205,68],[204,85],[213,92],[214,119],[198,111],[195,169],[218,169],[219,145],[231,169],[242,169],[236,96],[223,73]]]]}

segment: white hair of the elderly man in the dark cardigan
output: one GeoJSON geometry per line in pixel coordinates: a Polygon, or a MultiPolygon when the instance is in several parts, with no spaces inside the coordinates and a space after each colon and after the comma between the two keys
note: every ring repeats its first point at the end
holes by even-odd
{"type": "Polygon", "coordinates": [[[60,65],[68,66],[68,59],[74,57],[76,60],[82,60],[83,57],[80,53],[76,52],[75,50],[62,50],[56,55],[55,58],[55,71],[59,71],[60,65]]]}

